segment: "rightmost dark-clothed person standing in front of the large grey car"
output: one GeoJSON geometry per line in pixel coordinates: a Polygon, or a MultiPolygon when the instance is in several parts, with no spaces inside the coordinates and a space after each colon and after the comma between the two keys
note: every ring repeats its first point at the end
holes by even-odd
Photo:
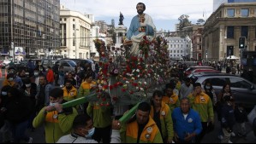
{"type": "Polygon", "coordinates": [[[235,107],[235,122],[237,124],[237,135],[241,137],[247,137],[246,122],[248,121],[247,112],[242,103],[239,103],[235,107]]]}

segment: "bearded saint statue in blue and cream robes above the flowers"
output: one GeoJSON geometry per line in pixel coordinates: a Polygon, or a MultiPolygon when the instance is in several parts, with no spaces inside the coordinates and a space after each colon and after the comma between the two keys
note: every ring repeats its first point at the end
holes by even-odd
{"type": "Polygon", "coordinates": [[[146,5],[138,3],[136,6],[138,15],[134,16],[127,32],[127,38],[124,45],[132,43],[130,49],[131,55],[139,55],[139,44],[141,39],[146,36],[150,41],[156,37],[156,26],[153,23],[152,17],[145,14],[146,5]]]}

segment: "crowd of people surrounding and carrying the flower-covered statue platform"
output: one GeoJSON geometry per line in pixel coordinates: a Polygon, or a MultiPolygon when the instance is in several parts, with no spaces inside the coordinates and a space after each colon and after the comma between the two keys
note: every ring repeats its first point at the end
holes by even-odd
{"type": "Polygon", "coordinates": [[[26,130],[40,126],[45,127],[47,143],[201,142],[214,127],[214,111],[221,124],[219,137],[223,143],[230,142],[235,123],[239,125],[237,135],[246,136],[247,113],[242,104],[235,106],[229,84],[216,95],[210,82],[201,85],[193,84],[190,78],[181,80],[178,71],[165,89],[154,91],[151,101],[141,102],[134,117],[121,123],[114,118],[113,106],[102,107],[91,101],[63,108],[63,103],[89,95],[97,86],[97,74],[85,68],[84,78],[77,85],[79,73],[63,75],[58,64],[41,66],[45,72],[39,71],[38,84],[37,73],[27,76],[26,70],[9,72],[0,99],[3,142],[31,143],[33,138],[26,135],[26,130]]]}

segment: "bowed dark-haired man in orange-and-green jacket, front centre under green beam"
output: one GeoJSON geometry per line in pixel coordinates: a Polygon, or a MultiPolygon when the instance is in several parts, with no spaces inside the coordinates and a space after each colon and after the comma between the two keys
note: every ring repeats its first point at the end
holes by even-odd
{"type": "Polygon", "coordinates": [[[163,143],[158,125],[150,116],[151,106],[141,102],[136,115],[122,125],[122,143],[163,143]]]}

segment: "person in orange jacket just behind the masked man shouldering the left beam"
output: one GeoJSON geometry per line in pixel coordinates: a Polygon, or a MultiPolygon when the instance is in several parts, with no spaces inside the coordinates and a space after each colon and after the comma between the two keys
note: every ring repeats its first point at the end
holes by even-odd
{"type": "Polygon", "coordinates": [[[77,89],[74,88],[72,82],[70,80],[66,81],[65,87],[63,88],[64,91],[64,100],[72,101],[76,99],[77,96],[77,89]]]}

